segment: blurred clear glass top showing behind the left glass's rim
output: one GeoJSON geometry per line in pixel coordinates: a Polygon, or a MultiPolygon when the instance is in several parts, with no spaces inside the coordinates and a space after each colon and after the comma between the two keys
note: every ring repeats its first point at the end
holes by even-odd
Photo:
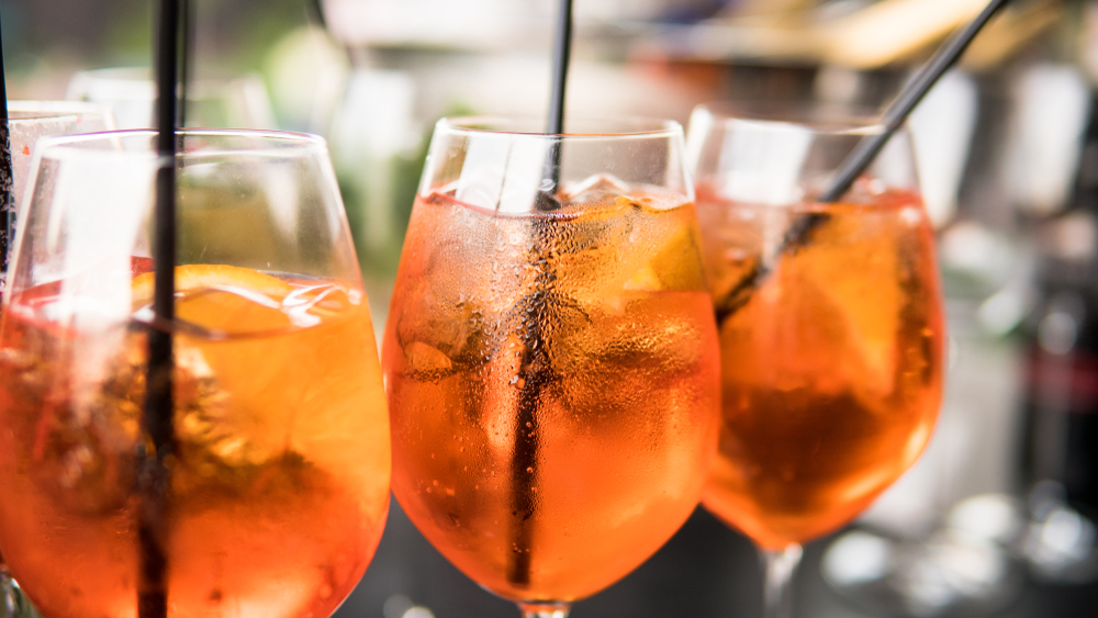
{"type": "MultiPolygon", "coordinates": [[[[153,128],[156,82],[148,68],[78,72],[69,81],[66,97],[110,108],[119,128],[153,128]]],[[[274,125],[270,97],[258,75],[194,79],[188,85],[187,126],[262,130],[274,125]]]]}

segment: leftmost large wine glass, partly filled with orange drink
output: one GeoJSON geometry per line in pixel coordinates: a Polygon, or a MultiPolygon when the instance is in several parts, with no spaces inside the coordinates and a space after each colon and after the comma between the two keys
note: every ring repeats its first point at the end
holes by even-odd
{"type": "Polygon", "coordinates": [[[0,326],[0,548],[45,616],[134,616],[138,513],[163,499],[169,617],[326,617],[377,548],[391,457],[325,144],[178,133],[164,323],[149,308],[156,136],[35,150],[0,326]],[[152,328],[175,341],[164,498],[137,482],[152,328]]]}

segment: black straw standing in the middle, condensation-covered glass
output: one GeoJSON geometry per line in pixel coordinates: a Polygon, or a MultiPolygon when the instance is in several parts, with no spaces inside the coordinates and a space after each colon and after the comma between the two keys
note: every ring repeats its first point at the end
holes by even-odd
{"type": "MultiPolygon", "coordinates": [[[[564,87],[572,47],[572,0],[561,0],[553,42],[552,93],[546,133],[560,136],[564,133],[564,87]]],[[[542,191],[536,207],[551,211],[560,206],[554,194],[560,184],[561,138],[553,139],[546,158],[542,191]]],[[[523,318],[522,364],[518,378],[518,404],[515,418],[515,453],[511,460],[512,486],[512,551],[507,560],[507,581],[518,587],[530,584],[533,557],[534,513],[537,508],[534,484],[538,473],[538,403],[545,389],[557,380],[549,359],[547,327],[559,318],[565,301],[553,290],[557,274],[547,259],[552,246],[552,231],[541,221],[533,225],[535,248],[533,259],[545,259],[549,265],[539,269],[534,291],[522,299],[515,311],[523,318]]]]}

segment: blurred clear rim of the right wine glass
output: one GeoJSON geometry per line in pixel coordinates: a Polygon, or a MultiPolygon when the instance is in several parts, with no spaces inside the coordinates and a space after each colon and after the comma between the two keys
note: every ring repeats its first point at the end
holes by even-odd
{"type": "MultiPolygon", "coordinates": [[[[733,126],[797,127],[820,135],[876,135],[885,130],[879,110],[848,104],[766,100],[702,103],[693,113],[706,112],[716,124],[733,126]]],[[[906,126],[906,125],[905,125],[906,126]]]]}

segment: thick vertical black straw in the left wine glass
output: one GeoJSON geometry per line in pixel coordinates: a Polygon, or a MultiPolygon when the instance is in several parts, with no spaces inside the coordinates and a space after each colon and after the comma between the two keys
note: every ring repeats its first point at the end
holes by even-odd
{"type": "Polygon", "coordinates": [[[155,292],[153,310],[157,327],[148,332],[148,393],[144,430],[155,453],[146,452],[141,463],[138,491],[139,568],[137,582],[138,618],[168,615],[168,469],[165,460],[175,446],[172,427],[172,346],[176,263],[176,121],[179,119],[179,0],[161,0],[157,53],[157,153],[156,176],[155,292]]]}

